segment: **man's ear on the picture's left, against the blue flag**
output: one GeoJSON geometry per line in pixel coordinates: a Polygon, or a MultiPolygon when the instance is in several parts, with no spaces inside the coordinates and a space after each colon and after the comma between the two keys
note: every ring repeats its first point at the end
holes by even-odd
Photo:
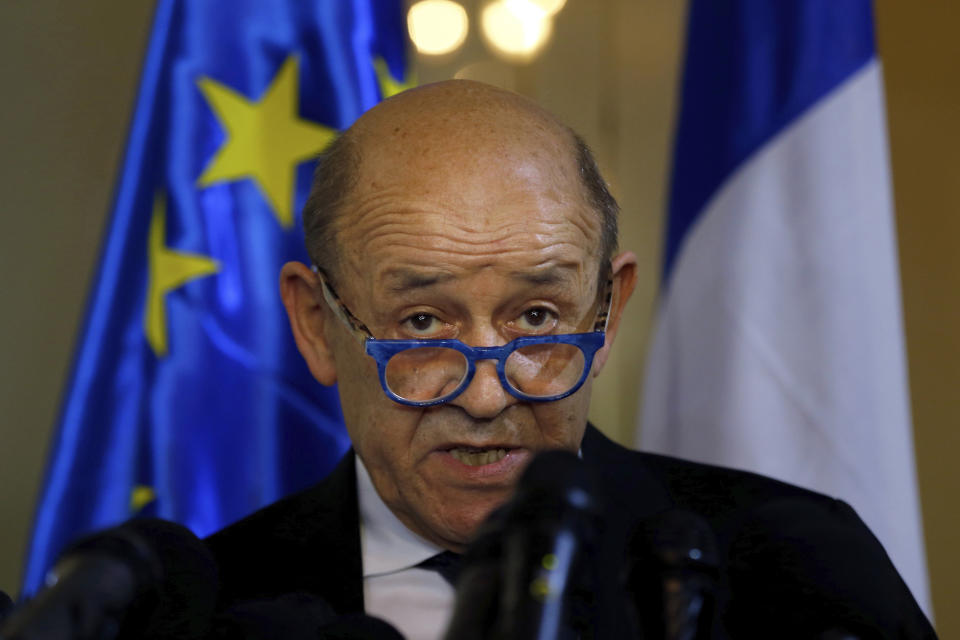
{"type": "Polygon", "coordinates": [[[316,293],[319,286],[317,274],[301,262],[288,262],[280,270],[280,297],[297,349],[317,382],[330,386],[337,381],[337,367],[324,333],[331,314],[316,293]]]}

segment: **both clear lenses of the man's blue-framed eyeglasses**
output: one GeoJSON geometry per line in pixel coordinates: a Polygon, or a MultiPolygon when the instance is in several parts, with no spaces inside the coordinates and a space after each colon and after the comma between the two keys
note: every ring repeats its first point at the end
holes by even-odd
{"type": "MultiPolygon", "coordinates": [[[[507,382],[516,391],[548,398],[566,393],[583,375],[583,352],[571,344],[538,344],[515,350],[504,363],[507,382]]],[[[452,394],[467,375],[466,357],[456,349],[417,347],[387,362],[387,387],[413,402],[452,394]]]]}

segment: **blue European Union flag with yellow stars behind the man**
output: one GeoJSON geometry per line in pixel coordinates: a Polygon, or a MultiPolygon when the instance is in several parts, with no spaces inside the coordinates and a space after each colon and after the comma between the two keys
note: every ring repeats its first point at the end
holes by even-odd
{"type": "Polygon", "coordinates": [[[159,0],[27,558],[140,513],[206,535],[349,446],[279,299],[311,163],[405,76],[402,0],[159,0]]]}

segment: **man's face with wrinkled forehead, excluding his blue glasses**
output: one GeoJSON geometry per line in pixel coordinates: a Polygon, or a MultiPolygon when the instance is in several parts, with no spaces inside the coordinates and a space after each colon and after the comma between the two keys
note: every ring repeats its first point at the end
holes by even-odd
{"type": "MultiPolygon", "coordinates": [[[[391,147],[382,136],[377,147],[364,143],[357,184],[336,225],[340,260],[331,276],[372,335],[497,346],[531,333],[591,329],[598,216],[581,194],[569,140],[530,129],[504,136],[501,127],[495,138],[431,130],[410,136],[416,143],[391,147]]],[[[621,271],[626,264],[632,274],[632,258],[619,264],[612,331],[594,373],[630,288],[621,271]]],[[[310,278],[288,267],[282,282],[310,278]]],[[[311,320],[303,324],[319,327],[320,338],[305,337],[309,327],[294,321],[301,352],[319,380],[338,383],[347,430],[377,492],[420,536],[462,550],[535,452],[579,448],[592,376],[566,398],[527,403],[483,361],[449,403],[401,405],[383,393],[376,363],[323,303],[318,282],[313,289],[304,305],[311,320]]],[[[297,306],[291,297],[285,291],[288,309],[297,306]]]]}

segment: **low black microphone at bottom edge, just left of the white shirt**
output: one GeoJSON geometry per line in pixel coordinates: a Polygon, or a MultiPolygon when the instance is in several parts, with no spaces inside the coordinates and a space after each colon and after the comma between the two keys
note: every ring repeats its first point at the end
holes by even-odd
{"type": "Polygon", "coordinates": [[[214,621],[211,640],[403,640],[389,623],[338,616],[322,598],[288,593],[234,605],[214,621]]]}

